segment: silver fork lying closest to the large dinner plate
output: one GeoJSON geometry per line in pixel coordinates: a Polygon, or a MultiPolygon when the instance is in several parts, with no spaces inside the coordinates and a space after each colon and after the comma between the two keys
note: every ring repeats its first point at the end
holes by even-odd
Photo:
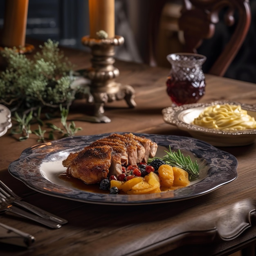
{"type": "Polygon", "coordinates": [[[51,221],[56,222],[61,225],[67,223],[67,220],[65,220],[63,218],[60,218],[52,213],[49,213],[48,211],[40,209],[39,207],[36,207],[36,206],[29,204],[25,201],[22,201],[22,198],[20,198],[18,195],[16,195],[1,180],[0,180],[0,196],[1,196],[2,200],[4,202],[6,202],[6,204],[12,204],[12,207],[13,207],[13,204],[15,204],[15,205],[22,207],[23,209],[26,209],[27,211],[31,211],[32,213],[34,213],[46,220],[51,220],[51,221]],[[2,186],[2,188],[1,188],[1,186],[2,186]]]}

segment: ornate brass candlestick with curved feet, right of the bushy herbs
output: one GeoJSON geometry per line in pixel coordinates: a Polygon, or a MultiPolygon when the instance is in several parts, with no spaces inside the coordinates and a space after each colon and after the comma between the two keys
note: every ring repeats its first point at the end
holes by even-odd
{"type": "Polygon", "coordinates": [[[90,80],[90,96],[93,98],[94,115],[87,121],[109,123],[111,120],[104,116],[104,105],[107,102],[124,99],[130,108],[134,108],[135,90],[130,85],[117,83],[119,70],[114,67],[115,46],[122,45],[124,38],[94,39],[89,36],[82,38],[82,43],[91,48],[92,66],[84,71],[83,76],[90,80]]]}

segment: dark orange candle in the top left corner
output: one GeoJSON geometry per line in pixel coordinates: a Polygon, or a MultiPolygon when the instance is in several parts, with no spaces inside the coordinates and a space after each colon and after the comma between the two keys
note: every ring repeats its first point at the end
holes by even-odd
{"type": "Polygon", "coordinates": [[[29,0],[5,0],[2,47],[25,46],[29,0]]]}

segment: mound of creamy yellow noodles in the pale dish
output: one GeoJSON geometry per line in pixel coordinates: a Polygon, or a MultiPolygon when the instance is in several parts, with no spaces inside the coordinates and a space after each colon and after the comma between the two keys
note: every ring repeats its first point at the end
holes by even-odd
{"type": "Polygon", "coordinates": [[[214,105],[205,110],[195,118],[192,124],[205,128],[218,130],[246,130],[256,129],[254,117],[247,114],[240,105],[214,105]]]}

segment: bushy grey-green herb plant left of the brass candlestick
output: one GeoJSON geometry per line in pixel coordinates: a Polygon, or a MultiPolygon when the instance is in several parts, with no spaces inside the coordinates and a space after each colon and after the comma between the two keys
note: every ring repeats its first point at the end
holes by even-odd
{"type": "Polygon", "coordinates": [[[60,52],[58,42],[47,40],[40,48],[34,56],[9,48],[0,53],[7,62],[0,72],[0,103],[11,112],[69,106],[74,100],[78,90],[70,86],[74,67],[60,52]]]}

